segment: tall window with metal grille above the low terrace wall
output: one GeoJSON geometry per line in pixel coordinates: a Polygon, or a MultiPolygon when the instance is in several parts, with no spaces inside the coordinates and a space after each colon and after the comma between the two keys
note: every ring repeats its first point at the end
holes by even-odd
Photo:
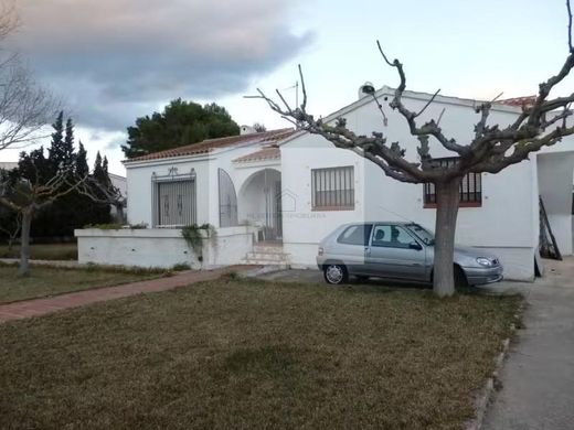
{"type": "Polygon", "coordinates": [[[196,223],[195,174],[152,176],[153,227],[182,227],[196,223]]]}

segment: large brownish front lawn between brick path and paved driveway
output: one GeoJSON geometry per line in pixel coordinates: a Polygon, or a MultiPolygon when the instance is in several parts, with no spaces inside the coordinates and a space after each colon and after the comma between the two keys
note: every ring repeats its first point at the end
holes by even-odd
{"type": "Polygon", "coordinates": [[[224,279],[0,325],[2,429],[460,429],[518,297],[224,279]]]}

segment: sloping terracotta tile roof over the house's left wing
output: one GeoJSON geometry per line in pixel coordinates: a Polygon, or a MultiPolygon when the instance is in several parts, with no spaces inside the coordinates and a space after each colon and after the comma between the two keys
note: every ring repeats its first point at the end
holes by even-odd
{"type": "Polygon", "coordinates": [[[196,155],[210,153],[216,149],[253,144],[253,143],[274,143],[291,136],[295,132],[291,128],[281,128],[259,133],[248,133],[241,136],[230,136],[227,138],[208,139],[202,142],[187,144],[184,147],[172,148],[166,151],[153,152],[141,157],[126,160],[125,163],[132,161],[158,160],[173,157],[196,155]]]}

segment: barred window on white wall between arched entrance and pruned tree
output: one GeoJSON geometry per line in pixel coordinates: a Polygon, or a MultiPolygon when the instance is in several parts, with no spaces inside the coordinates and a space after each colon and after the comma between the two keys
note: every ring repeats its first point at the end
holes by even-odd
{"type": "Polygon", "coordinates": [[[311,170],[311,207],[313,211],[353,209],[353,166],[311,170]]]}

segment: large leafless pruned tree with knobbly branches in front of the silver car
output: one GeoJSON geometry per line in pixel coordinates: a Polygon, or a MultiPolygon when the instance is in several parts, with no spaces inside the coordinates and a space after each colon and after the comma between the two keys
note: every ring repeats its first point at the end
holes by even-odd
{"type": "MultiPolygon", "coordinates": [[[[389,106],[404,118],[411,135],[418,140],[416,148],[418,161],[416,162],[410,161],[405,157],[406,148],[403,148],[400,142],[389,144],[381,131],[373,131],[371,136],[358,136],[347,127],[344,118],[338,118],[334,123],[326,123],[308,114],[306,110],[307,90],[300,65],[299,75],[302,88],[300,106],[291,108],[279,90],[276,90],[278,101],[268,97],[261,89],[257,89],[258,96],[255,97],[264,99],[274,111],[290,120],[297,128],[322,136],[337,148],[353,151],[376,164],[387,176],[396,181],[434,184],[437,196],[434,291],[440,297],[451,295],[455,292],[454,244],[461,179],[467,173],[498,173],[512,164],[527,160],[532,152],[553,146],[563,137],[574,133],[574,127],[567,122],[567,118],[573,115],[571,105],[574,101],[574,93],[550,98],[551,90],[563,82],[574,67],[570,0],[566,1],[566,6],[568,54],[560,71],[540,84],[533,104],[523,106],[522,112],[510,125],[488,123],[490,110],[496,100],[478,105],[476,112],[479,115],[479,119],[475,126],[474,137],[467,142],[458,142],[449,137],[442,129],[439,119],[421,123],[421,116],[433,104],[438,92],[421,110],[414,111],[405,106],[403,94],[406,89],[406,74],[403,64],[398,60],[390,61],[378,42],[385,64],[394,68],[398,75],[400,84],[389,106]],[[434,160],[431,153],[431,139],[453,152],[457,157],[457,162],[445,166],[434,160]]],[[[371,96],[380,108],[386,125],[386,116],[376,93],[371,92],[371,96]]]]}

